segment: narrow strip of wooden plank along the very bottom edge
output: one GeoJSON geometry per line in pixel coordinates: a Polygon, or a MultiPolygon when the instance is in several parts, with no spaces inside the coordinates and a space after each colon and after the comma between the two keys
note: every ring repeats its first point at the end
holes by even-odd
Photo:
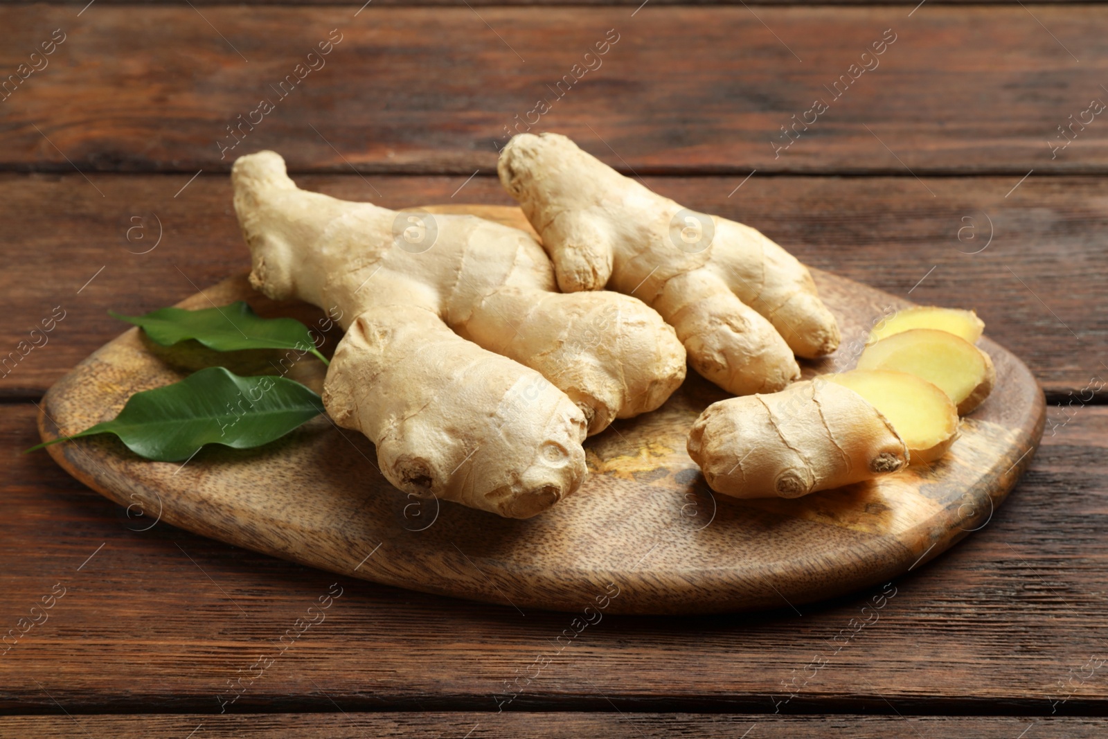
{"type": "Polygon", "coordinates": [[[219,737],[289,737],[295,739],[361,739],[362,737],[466,737],[466,739],[623,739],[624,737],[728,737],[753,728],[758,737],[850,737],[888,739],[914,736],[931,739],[1012,739],[1030,728],[1030,737],[1070,739],[1100,737],[1102,718],[1027,718],[1023,716],[761,716],[743,714],[253,714],[248,716],[11,716],[0,718],[0,739],[69,738],[78,726],[96,737],[181,739],[189,731],[206,739],[219,737]],[[909,728],[911,727],[911,729],[909,728]],[[203,731],[203,735],[201,733],[203,731]],[[644,732],[649,731],[650,735],[644,732]]]}

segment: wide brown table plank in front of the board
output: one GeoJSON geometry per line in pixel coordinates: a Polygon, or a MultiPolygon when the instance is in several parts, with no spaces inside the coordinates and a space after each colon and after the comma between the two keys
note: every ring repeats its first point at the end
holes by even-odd
{"type": "MultiPolygon", "coordinates": [[[[34,413],[7,409],[6,449],[37,440],[34,413]]],[[[151,516],[127,517],[44,453],[9,452],[3,630],[66,589],[0,658],[0,709],[218,712],[228,680],[250,676],[229,710],[1104,712],[1106,447],[1108,409],[1076,412],[987,525],[893,583],[865,627],[871,592],[803,615],[609,616],[555,653],[566,614],[338,578],[326,620],[268,665],[336,576],[164,523],[133,531],[151,516]]]]}

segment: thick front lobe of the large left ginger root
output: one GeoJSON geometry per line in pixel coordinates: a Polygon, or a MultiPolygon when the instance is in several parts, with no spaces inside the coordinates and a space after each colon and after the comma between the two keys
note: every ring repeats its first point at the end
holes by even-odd
{"type": "Polygon", "coordinates": [[[585,419],[564,393],[422,308],[363,311],[335,351],[324,404],[373,441],[389,482],[420,497],[527,519],[587,471],[585,419]]]}

